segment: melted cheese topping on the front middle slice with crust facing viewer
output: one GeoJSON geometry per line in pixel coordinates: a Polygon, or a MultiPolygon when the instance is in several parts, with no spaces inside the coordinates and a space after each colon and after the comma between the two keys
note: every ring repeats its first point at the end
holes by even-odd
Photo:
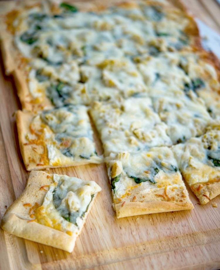
{"type": "Polygon", "coordinates": [[[113,154],[106,158],[110,182],[114,183],[114,200],[141,185],[143,194],[147,195],[160,188],[184,188],[177,161],[167,147],[155,147],[148,152],[113,154]],[[117,169],[115,169],[117,168],[117,169]]]}

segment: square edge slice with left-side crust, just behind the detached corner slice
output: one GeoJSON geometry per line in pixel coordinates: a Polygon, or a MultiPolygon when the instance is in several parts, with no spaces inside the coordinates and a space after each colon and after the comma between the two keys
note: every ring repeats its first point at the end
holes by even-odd
{"type": "Polygon", "coordinates": [[[85,106],[68,105],[39,114],[18,111],[16,121],[28,171],[102,162],[85,106]]]}

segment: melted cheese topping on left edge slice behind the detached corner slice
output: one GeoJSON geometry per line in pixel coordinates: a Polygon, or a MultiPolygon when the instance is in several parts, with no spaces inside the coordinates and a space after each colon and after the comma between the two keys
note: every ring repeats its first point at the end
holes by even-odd
{"type": "MultiPolygon", "coordinates": [[[[33,119],[31,129],[39,132],[42,125],[45,126],[42,141],[48,150],[49,165],[101,162],[86,107],[69,105],[43,112],[33,119]]],[[[35,139],[35,135],[29,134],[28,139],[35,139]]]]}

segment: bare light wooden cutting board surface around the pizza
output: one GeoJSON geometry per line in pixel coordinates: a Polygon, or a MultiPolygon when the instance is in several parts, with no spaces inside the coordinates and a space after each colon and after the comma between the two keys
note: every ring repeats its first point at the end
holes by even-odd
{"type": "MultiPolygon", "coordinates": [[[[183,2],[194,16],[220,33],[220,7],[214,0],[183,2]]],[[[28,178],[18,146],[17,109],[21,105],[16,85],[4,75],[1,61],[0,219],[28,178]]],[[[95,180],[102,187],[75,249],[69,254],[0,229],[0,269],[220,269],[220,196],[200,205],[188,189],[193,210],[117,219],[104,164],[48,172],[95,180]]]]}

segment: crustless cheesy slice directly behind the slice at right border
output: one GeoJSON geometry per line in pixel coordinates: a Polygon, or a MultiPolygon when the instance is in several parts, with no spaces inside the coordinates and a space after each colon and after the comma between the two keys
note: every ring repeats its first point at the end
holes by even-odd
{"type": "Polygon", "coordinates": [[[167,124],[167,135],[173,144],[201,136],[212,121],[204,102],[197,98],[158,96],[153,98],[153,107],[167,124]]]}

